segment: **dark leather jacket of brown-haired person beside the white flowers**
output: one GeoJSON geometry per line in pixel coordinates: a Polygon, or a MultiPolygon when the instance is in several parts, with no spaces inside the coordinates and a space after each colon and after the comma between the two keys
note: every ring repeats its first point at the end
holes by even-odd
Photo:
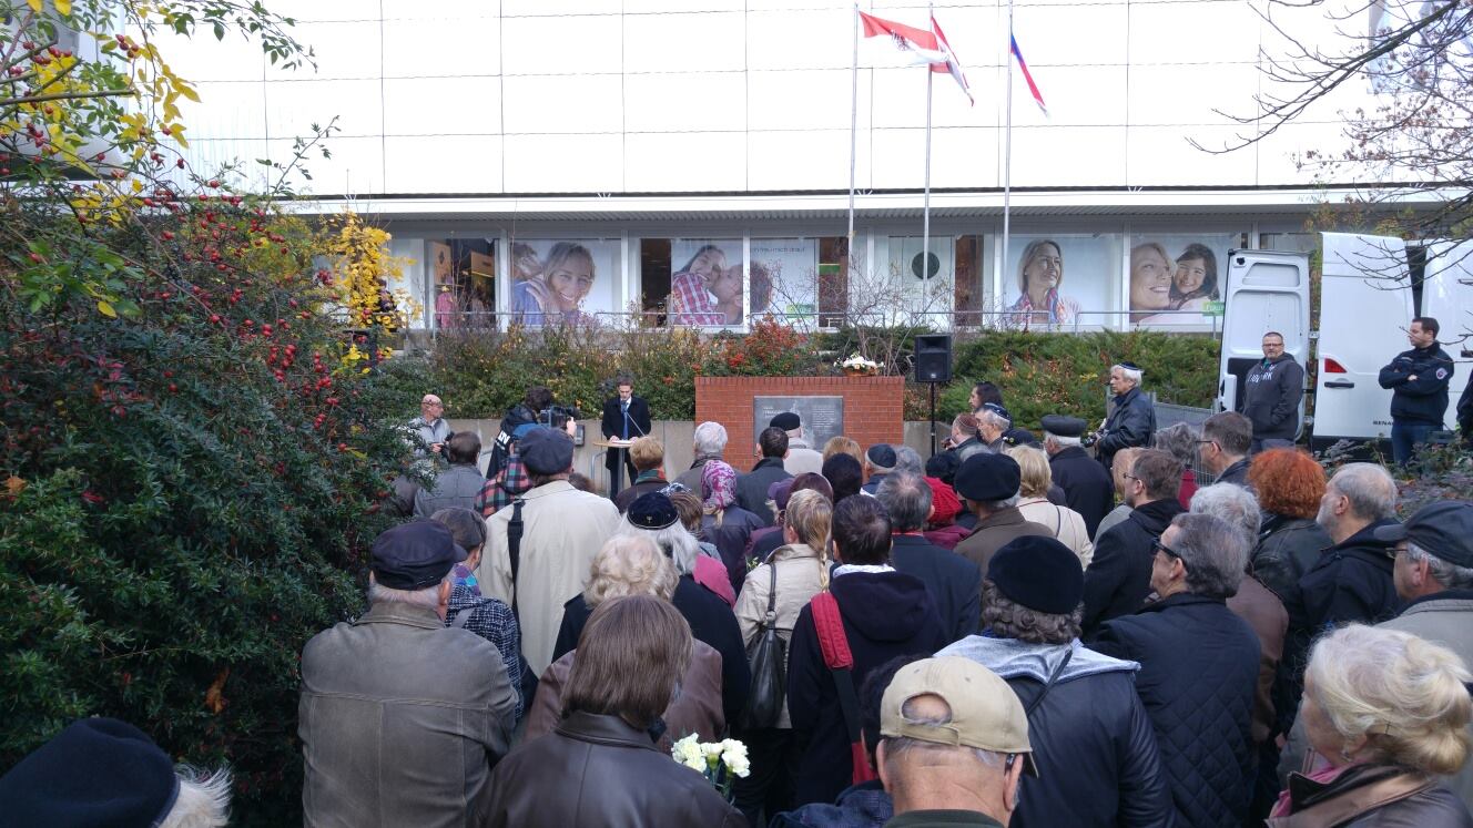
{"type": "Polygon", "coordinates": [[[657,750],[617,716],[573,713],[521,743],[491,776],[489,828],[745,828],[704,776],[657,750]]]}

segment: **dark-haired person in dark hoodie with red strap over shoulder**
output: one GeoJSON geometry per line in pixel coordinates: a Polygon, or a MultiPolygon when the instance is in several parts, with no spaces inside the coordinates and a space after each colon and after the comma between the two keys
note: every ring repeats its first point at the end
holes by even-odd
{"type": "MultiPolygon", "coordinates": [[[[854,656],[856,688],[871,670],[897,656],[929,654],[950,636],[925,582],[890,566],[890,517],[876,498],[850,498],[834,507],[828,585],[854,656]]],[[[788,713],[801,747],[795,801],[834,801],[854,768],[835,676],[823,662],[812,603],[798,613],[788,653],[788,713]]]]}

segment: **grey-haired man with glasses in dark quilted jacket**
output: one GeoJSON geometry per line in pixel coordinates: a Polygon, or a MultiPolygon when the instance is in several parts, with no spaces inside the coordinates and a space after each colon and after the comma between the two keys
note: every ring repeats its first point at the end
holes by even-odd
{"type": "Polygon", "coordinates": [[[1258,636],[1227,608],[1246,566],[1242,529],[1209,514],[1177,516],[1150,564],[1161,600],[1106,623],[1091,644],[1140,662],[1136,691],[1156,731],[1177,825],[1237,828],[1248,815],[1258,636]]]}

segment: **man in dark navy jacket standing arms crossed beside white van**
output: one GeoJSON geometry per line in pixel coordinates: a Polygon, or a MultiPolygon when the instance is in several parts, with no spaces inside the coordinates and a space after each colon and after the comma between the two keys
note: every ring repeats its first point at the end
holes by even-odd
{"type": "Polygon", "coordinates": [[[1411,351],[1402,351],[1380,371],[1380,386],[1392,389],[1391,452],[1396,463],[1411,460],[1417,443],[1442,429],[1448,413],[1452,358],[1438,348],[1438,320],[1417,317],[1407,330],[1411,351]]]}

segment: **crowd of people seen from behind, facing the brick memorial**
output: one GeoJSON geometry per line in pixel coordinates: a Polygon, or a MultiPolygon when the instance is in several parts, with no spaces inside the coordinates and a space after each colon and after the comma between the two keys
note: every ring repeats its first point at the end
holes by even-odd
{"type": "MultiPolygon", "coordinates": [[[[1282,404],[1158,429],[1142,368],[1109,377],[1096,430],[1036,436],[980,383],[929,460],[782,414],[745,473],[700,423],[673,479],[620,379],[616,498],[546,389],[489,479],[426,396],[442,469],[302,653],[306,824],[1473,828],[1473,504],[1401,522],[1386,469],[1280,442],[1282,404]],[[692,734],[742,743],[729,797],[672,757],[692,734]]],[[[0,801],[222,825],[225,779],[91,719],[0,801]]]]}

